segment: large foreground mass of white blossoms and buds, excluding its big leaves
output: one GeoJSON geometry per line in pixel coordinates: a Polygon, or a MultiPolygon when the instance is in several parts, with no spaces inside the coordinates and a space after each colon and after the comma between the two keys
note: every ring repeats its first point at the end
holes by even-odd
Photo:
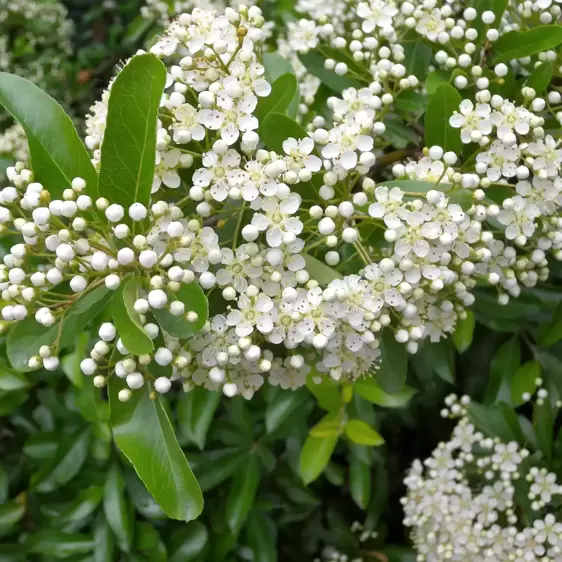
{"type": "MultiPolygon", "coordinates": [[[[428,0],[423,9],[434,4],[428,0]]],[[[168,79],[148,215],[152,230],[146,240],[130,236],[120,222],[127,210],[109,201],[89,203],[104,210],[110,223],[98,225],[89,207],[78,205],[84,195],[73,190],[65,192],[68,200],[54,203],[54,210],[49,205],[54,216],[71,213],[59,212],[58,205],[86,213],[68,215],[70,228],[61,226],[57,216],[52,228],[62,229],[62,237],[49,230],[49,222],[21,218],[41,206],[37,197],[48,203],[23,170],[13,172],[15,187],[7,188],[4,204],[19,208],[6,206],[11,212],[6,220],[17,217],[14,226],[27,239],[34,240],[37,229],[56,236],[49,251],[57,255],[54,268],[66,272],[60,281],[84,278],[86,290],[103,279],[107,285],[108,276],[115,283],[107,286],[114,288],[132,270],[148,268],[148,296],[138,304],[142,316],[157,305],[187,314],[179,304],[172,307],[170,294],[177,283],[195,281],[208,291],[212,315],[197,335],[185,341],[162,335],[167,365],[174,365],[171,377],[186,386],[221,388],[229,396],[249,398],[266,378],[283,388],[303,385],[309,373],[355,380],[376,369],[383,329],[392,330],[411,353],[424,339],[438,341],[455,330],[474,302],[478,283],[496,286],[505,304],[521,286],[547,278],[547,254],[562,258],[562,160],[557,141],[543,128],[545,99],[527,88],[517,105],[492,95],[483,81],[475,84],[475,103],[463,101],[451,118],[463,141],[474,145],[470,159],[463,161],[439,146],[424,149],[417,160],[404,160],[400,151],[393,160],[381,154],[388,146],[383,119],[395,97],[420,88],[403,64],[404,48],[398,43],[400,26],[418,13],[405,13],[408,5],[346,3],[352,9],[345,18],[360,22],[349,49],[365,85],[330,97],[329,120],[315,117],[308,136],[285,138],[276,151],[264,142],[267,131],[257,117],[272,89],[260,58],[265,41],[261,10],[226,8],[217,14],[194,9],[180,15],[151,48],[164,61],[168,79]],[[370,177],[373,167],[385,177],[389,163],[392,175],[386,177],[395,180],[376,184],[370,177]],[[403,180],[431,182],[430,189],[411,192],[411,181],[403,180]],[[488,195],[492,187],[508,190],[509,196],[495,203],[488,195]],[[98,235],[102,238],[95,249],[108,256],[108,263],[100,265],[99,273],[93,268],[96,273],[84,275],[98,235]],[[113,236],[123,240],[121,255],[113,236]]],[[[324,9],[304,0],[299,6],[324,9]]],[[[443,13],[447,6],[458,8],[447,4],[443,13]]],[[[332,24],[325,21],[327,13],[318,16],[324,21],[318,37],[335,49],[346,47],[337,34],[345,32],[348,20],[332,24]]],[[[293,45],[295,51],[310,48],[293,45]]],[[[338,64],[327,66],[346,74],[347,65],[338,64]]],[[[96,164],[109,91],[87,119],[86,143],[96,164]]],[[[548,94],[550,104],[559,101],[557,91],[548,94]]],[[[4,260],[5,290],[17,298],[28,273],[18,273],[16,284],[10,270],[21,269],[21,259],[12,252],[4,260]]],[[[74,284],[84,290],[82,281],[74,284]]],[[[32,308],[24,302],[9,306],[18,307],[7,309],[9,322],[32,308]]],[[[41,313],[40,321],[49,324],[51,316],[41,313]]],[[[147,333],[160,338],[160,330],[145,319],[147,333]]],[[[149,359],[127,357],[117,367],[118,376],[146,373],[141,366],[149,359]]],[[[87,365],[86,371],[96,371],[91,362],[87,365]]]]}

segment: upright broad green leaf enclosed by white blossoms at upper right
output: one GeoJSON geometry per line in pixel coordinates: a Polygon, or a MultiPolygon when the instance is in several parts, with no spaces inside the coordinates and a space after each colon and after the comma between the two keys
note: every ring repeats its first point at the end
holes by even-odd
{"type": "Polygon", "coordinates": [[[449,84],[441,84],[429,98],[424,122],[426,146],[438,145],[445,151],[460,154],[460,131],[451,127],[449,118],[458,111],[461,101],[459,92],[449,84]]]}

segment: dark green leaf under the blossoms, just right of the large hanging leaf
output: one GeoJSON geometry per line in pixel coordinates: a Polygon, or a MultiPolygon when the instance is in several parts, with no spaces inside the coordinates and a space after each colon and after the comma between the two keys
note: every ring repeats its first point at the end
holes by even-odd
{"type": "Polygon", "coordinates": [[[187,396],[180,399],[178,422],[191,443],[199,449],[205,448],[207,432],[220,403],[221,393],[196,386],[187,396]]]}

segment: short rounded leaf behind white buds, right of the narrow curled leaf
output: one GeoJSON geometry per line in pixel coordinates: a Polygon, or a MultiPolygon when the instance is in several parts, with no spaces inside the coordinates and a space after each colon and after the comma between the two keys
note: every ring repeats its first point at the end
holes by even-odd
{"type": "MultiPolygon", "coordinates": [[[[199,283],[182,283],[180,290],[174,293],[175,300],[183,302],[185,314],[197,313],[196,322],[188,322],[185,314],[174,316],[167,308],[152,310],[160,327],[176,338],[187,338],[201,330],[209,318],[209,302],[199,283]]],[[[126,347],[126,346],[125,346],[126,347]]]]}

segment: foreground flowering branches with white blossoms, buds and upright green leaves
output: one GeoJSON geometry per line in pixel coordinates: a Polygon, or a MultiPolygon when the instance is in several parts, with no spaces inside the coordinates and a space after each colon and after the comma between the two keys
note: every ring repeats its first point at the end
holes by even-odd
{"type": "Polygon", "coordinates": [[[303,0],[277,34],[294,67],[258,7],[193,9],[92,107],[90,154],[3,75],[33,168],[0,192],[12,364],[57,368],[107,307],[81,368],[110,399],[401,389],[478,285],[507,304],[562,258],[547,4],[303,0]]]}

